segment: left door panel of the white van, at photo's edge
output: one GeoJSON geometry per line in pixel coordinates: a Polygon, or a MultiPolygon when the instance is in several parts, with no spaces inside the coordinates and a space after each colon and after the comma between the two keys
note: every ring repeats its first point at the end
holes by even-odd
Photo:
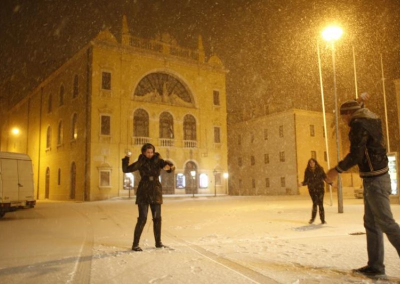
{"type": "Polygon", "coordinates": [[[18,166],[14,159],[1,159],[3,202],[18,201],[18,166]]]}

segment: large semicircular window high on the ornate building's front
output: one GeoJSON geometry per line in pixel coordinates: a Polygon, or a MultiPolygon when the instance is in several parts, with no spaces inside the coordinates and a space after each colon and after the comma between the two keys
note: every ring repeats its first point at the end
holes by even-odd
{"type": "Polygon", "coordinates": [[[162,72],[144,76],[137,84],[134,96],[167,104],[193,105],[187,87],[178,78],[162,72]]]}

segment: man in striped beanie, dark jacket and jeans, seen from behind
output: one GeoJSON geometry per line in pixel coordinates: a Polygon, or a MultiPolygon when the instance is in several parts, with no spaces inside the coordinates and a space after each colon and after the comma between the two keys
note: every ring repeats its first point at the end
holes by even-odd
{"type": "Polygon", "coordinates": [[[358,165],[364,187],[368,263],[353,269],[353,272],[374,278],[384,277],[382,232],[400,256],[400,227],[390,210],[390,177],[381,121],[375,113],[361,107],[355,100],[347,100],[340,105],[340,116],[350,127],[350,152],[334,168],[329,169],[327,177],[335,180],[338,173],[358,165]]]}

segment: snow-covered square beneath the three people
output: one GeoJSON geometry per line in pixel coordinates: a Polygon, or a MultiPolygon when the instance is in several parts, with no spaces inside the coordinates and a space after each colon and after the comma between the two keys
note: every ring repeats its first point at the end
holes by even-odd
{"type": "MultiPolygon", "coordinates": [[[[349,273],[367,259],[362,199],[344,199],[342,214],[326,202],[327,224],[309,225],[307,196],[164,198],[172,249],[154,248],[149,212],[143,251],[133,252],[134,199],[38,201],[0,219],[0,282],[372,283],[349,273]]],[[[392,211],[400,221],[400,205],[392,211]]],[[[386,238],[385,264],[400,278],[386,238]]]]}

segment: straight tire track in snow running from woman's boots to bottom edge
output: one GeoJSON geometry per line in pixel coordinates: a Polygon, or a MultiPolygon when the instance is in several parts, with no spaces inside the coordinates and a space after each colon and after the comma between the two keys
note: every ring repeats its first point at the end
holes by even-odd
{"type": "Polygon", "coordinates": [[[188,242],[186,240],[180,239],[168,232],[163,232],[166,236],[176,240],[179,243],[184,244],[185,246],[189,247],[191,250],[195,251],[196,253],[200,254],[201,256],[243,276],[244,278],[250,280],[252,283],[279,283],[276,280],[262,274],[259,273],[249,267],[246,267],[244,265],[241,265],[237,262],[234,262],[230,259],[227,259],[225,257],[222,257],[218,254],[215,254],[209,250],[206,250],[204,248],[202,248],[201,246],[198,246],[194,243],[188,242]]]}

